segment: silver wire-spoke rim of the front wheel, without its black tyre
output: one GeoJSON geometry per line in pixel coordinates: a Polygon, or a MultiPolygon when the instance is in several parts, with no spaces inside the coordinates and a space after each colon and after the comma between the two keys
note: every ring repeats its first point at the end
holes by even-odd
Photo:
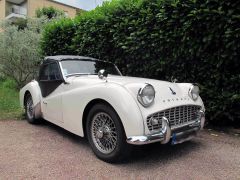
{"type": "Polygon", "coordinates": [[[117,129],[112,118],[104,112],[97,113],[91,123],[91,136],[96,148],[110,154],[117,146],[117,129]]]}

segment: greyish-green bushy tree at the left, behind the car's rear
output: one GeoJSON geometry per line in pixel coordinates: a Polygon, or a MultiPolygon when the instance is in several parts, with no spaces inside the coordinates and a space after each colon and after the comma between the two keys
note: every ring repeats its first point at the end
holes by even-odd
{"type": "Polygon", "coordinates": [[[28,19],[27,27],[19,29],[5,21],[0,33],[0,72],[21,88],[34,78],[40,56],[41,29],[45,19],[28,19]]]}

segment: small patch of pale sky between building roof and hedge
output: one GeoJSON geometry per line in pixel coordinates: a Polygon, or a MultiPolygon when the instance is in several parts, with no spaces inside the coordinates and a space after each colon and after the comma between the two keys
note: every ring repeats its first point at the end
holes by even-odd
{"type": "Polygon", "coordinates": [[[55,0],[84,10],[92,10],[104,0],[55,0]]]}

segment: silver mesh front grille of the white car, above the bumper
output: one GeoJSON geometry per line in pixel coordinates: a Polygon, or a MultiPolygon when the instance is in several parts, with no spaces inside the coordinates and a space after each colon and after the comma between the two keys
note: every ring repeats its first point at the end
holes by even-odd
{"type": "Polygon", "coordinates": [[[149,131],[160,130],[162,128],[163,116],[169,120],[171,128],[194,121],[198,118],[200,109],[201,106],[185,105],[154,113],[147,117],[148,129],[149,131]],[[152,124],[152,118],[156,119],[158,123],[152,124]]]}

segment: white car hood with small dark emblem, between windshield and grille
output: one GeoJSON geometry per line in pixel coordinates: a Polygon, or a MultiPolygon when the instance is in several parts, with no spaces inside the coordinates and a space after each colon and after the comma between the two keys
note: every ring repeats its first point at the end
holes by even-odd
{"type": "Polygon", "coordinates": [[[146,83],[151,84],[156,91],[156,99],[159,101],[169,101],[178,98],[189,98],[188,90],[191,86],[189,83],[172,83],[161,80],[128,77],[128,76],[108,76],[106,80],[99,79],[96,75],[79,76],[70,78],[73,84],[78,85],[91,85],[98,83],[115,83],[126,88],[134,97],[136,97],[139,89],[146,83]]]}

